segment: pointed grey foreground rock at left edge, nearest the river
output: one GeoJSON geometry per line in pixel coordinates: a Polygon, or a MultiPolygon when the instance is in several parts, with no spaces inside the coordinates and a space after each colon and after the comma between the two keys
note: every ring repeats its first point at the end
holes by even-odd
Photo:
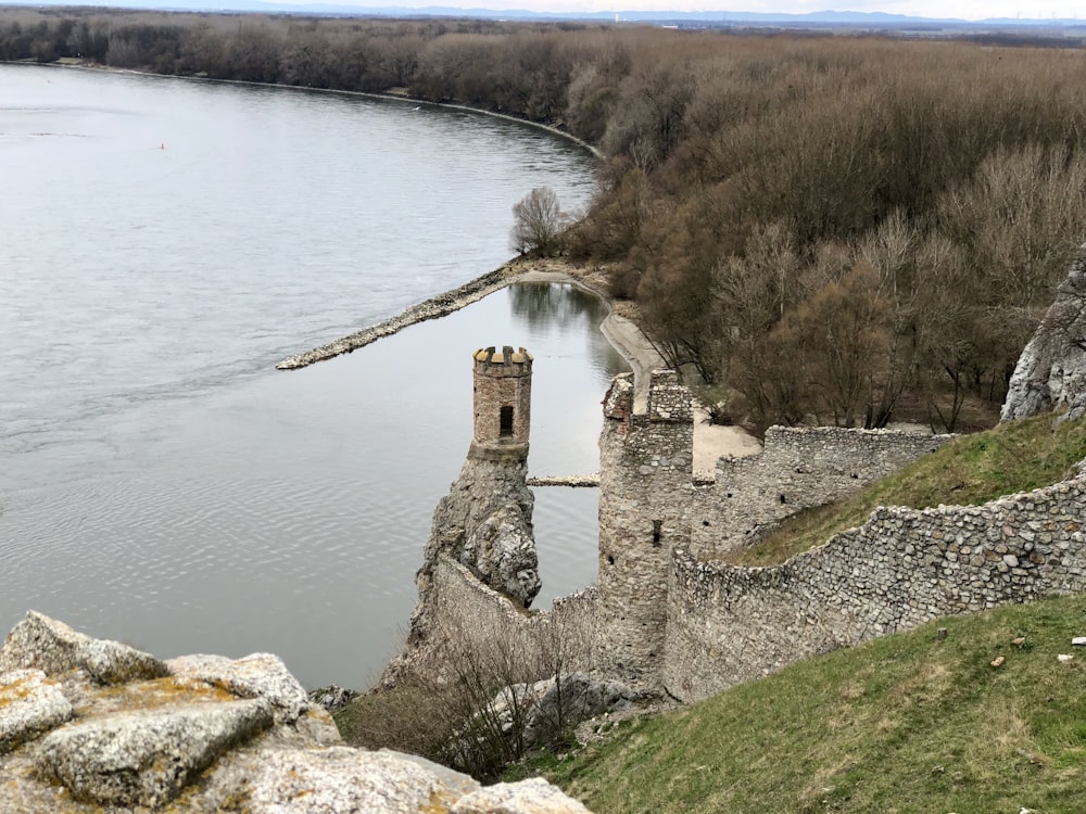
{"type": "Polygon", "coordinates": [[[86,670],[101,684],[123,684],[166,675],[166,666],[150,653],[108,639],[77,633],[37,611],[28,611],[0,649],[0,673],[33,667],[48,675],[86,670]]]}

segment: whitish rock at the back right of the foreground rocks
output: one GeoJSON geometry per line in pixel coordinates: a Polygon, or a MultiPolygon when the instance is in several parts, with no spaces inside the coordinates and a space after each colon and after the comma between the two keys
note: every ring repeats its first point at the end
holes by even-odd
{"type": "Polygon", "coordinates": [[[253,653],[243,659],[224,656],[181,656],[165,662],[171,674],[223,687],[241,698],[265,698],[287,723],[310,707],[310,696],[278,656],[253,653]]]}

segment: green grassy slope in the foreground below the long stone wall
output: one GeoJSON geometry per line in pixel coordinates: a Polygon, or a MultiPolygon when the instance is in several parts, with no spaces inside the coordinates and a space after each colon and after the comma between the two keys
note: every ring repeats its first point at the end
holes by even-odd
{"type": "Polygon", "coordinates": [[[944,620],[623,724],[538,768],[595,814],[1086,812],[1081,635],[1082,596],[944,620]]]}

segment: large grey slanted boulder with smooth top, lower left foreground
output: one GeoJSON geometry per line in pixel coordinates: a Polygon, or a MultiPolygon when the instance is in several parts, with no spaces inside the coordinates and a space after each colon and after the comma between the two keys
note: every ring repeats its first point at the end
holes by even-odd
{"type": "Polygon", "coordinates": [[[76,800],[162,805],[227,749],[272,726],[263,699],[94,717],[41,741],[38,770],[76,800]]]}

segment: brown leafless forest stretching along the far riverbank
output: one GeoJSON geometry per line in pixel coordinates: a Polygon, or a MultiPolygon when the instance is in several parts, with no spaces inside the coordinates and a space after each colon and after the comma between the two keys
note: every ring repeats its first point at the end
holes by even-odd
{"type": "Polygon", "coordinates": [[[0,11],[0,60],[408,96],[595,145],[560,244],[721,420],[990,424],[1086,243],[1086,50],[0,11]]]}

